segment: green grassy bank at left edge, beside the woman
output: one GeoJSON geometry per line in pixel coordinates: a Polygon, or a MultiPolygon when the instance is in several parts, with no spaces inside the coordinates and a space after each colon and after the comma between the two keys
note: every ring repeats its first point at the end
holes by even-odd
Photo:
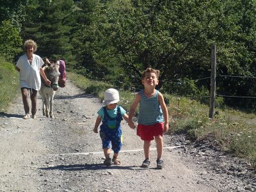
{"type": "Polygon", "coordinates": [[[1,57],[0,87],[0,112],[3,112],[19,92],[19,74],[12,63],[4,61],[1,57]]]}

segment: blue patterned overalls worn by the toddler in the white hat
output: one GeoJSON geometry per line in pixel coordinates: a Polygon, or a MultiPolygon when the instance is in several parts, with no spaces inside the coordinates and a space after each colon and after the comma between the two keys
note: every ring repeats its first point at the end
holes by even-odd
{"type": "Polygon", "coordinates": [[[120,107],[117,106],[117,115],[112,118],[108,115],[106,107],[104,107],[104,118],[100,125],[100,138],[102,140],[102,148],[110,148],[110,142],[112,150],[115,154],[120,152],[123,145],[123,135],[121,129],[121,121],[123,117],[121,115],[120,107]]]}

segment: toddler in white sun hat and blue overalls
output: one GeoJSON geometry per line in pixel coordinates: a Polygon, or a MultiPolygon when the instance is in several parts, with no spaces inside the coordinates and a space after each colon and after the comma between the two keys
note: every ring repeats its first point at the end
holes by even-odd
{"type": "Polygon", "coordinates": [[[102,140],[102,148],[104,151],[104,164],[106,166],[111,166],[110,158],[110,147],[114,151],[113,163],[120,164],[121,161],[118,159],[118,154],[123,145],[123,135],[121,129],[121,121],[123,118],[128,122],[128,125],[134,129],[134,124],[129,120],[126,111],[121,106],[118,106],[119,93],[117,90],[110,88],[104,93],[104,104],[106,106],[102,107],[98,111],[98,117],[95,122],[93,132],[98,132],[98,127],[100,122],[100,138],[102,140]]]}

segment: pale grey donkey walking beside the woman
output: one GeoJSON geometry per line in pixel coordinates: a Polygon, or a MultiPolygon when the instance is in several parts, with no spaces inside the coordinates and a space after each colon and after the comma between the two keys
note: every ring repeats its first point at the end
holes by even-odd
{"type": "Polygon", "coordinates": [[[47,79],[51,81],[51,86],[47,86],[47,84],[44,83],[44,79],[41,78],[42,84],[41,88],[39,90],[39,93],[42,97],[43,101],[43,115],[46,117],[54,118],[53,112],[52,112],[52,104],[53,104],[53,98],[55,95],[56,90],[58,90],[58,80],[60,76],[59,72],[60,65],[58,63],[53,63],[47,65],[44,67],[44,73],[47,79]],[[50,109],[50,110],[49,110],[50,109]]]}

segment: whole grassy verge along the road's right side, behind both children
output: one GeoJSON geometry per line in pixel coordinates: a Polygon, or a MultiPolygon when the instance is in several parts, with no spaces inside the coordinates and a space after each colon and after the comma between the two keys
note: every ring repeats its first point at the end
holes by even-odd
{"type": "MultiPolygon", "coordinates": [[[[86,93],[93,93],[103,100],[104,91],[115,88],[112,84],[91,81],[81,75],[68,73],[68,78],[86,93]]],[[[120,92],[120,105],[127,111],[134,95],[120,92]]],[[[212,121],[208,118],[209,107],[195,100],[178,98],[164,94],[172,120],[170,129],[173,133],[186,133],[190,140],[206,139],[209,135],[220,143],[223,150],[243,157],[256,167],[256,115],[246,114],[232,109],[216,109],[218,115],[212,121]]]]}

